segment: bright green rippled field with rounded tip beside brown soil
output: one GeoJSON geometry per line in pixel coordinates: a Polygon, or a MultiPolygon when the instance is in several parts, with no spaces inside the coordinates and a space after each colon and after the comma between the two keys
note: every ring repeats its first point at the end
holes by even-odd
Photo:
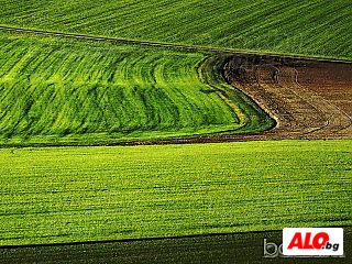
{"type": "Polygon", "coordinates": [[[209,55],[0,34],[0,144],[102,144],[273,122],[209,55]],[[198,69],[200,67],[200,69],[198,69]]]}

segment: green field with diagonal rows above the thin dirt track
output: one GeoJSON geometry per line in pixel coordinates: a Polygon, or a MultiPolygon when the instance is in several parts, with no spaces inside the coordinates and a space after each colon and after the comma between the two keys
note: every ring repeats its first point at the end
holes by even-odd
{"type": "Polygon", "coordinates": [[[350,0],[0,0],[0,24],[352,59],[350,0]]]}

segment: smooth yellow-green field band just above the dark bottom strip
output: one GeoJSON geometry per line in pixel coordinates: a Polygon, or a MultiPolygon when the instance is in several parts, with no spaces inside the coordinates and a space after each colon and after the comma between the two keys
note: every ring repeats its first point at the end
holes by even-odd
{"type": "Polygon", "coordinates": [[[0,150],[0,244],[349,226],[352,141],[0,150]]]}

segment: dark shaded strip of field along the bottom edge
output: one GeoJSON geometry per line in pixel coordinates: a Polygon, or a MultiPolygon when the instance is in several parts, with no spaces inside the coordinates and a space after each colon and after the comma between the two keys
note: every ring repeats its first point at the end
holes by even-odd
{"type": "Polygon", "coordinates": [[[352,228],[344,228],[339,258],[264,257],[264,239],[282,243],[282,231],[116,242],[0,248],[0,263],[351,263],[352,228]]]}

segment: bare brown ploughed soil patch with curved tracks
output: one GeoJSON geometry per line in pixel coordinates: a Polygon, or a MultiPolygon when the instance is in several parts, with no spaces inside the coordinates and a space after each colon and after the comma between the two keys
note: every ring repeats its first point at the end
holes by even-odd
{"type": "Polygon", "coordinates": [[[233,56],[223,74],[277,122],[273,130],[250,139],[352,138],[350,63],[233,56]]]}

